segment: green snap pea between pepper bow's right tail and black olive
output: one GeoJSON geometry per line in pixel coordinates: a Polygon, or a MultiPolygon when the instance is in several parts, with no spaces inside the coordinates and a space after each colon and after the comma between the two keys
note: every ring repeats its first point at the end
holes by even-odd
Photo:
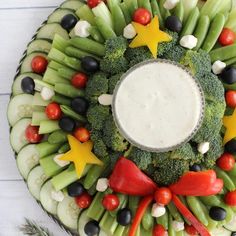
{"type": "Polygon", "coordinates": [[[207,215],[205,214],[204,209],[202,208],[202,205],[200,204],[198,198],[193,196],[187,196],[186,200],[189,208],[198,218],[198,220],[201,221],[202,224],[207,226],[208,225],[207,215]]]}

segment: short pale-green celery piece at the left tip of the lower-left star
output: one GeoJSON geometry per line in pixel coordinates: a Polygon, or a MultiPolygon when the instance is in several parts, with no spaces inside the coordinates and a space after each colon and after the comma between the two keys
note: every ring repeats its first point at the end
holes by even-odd
{"type": "Polygon", "coordinates": [[[44,173],[46,174],[47,177],[52,177],[58,173],[60,173],[63,168],[65,167],[61,167],[59,166],[54,160],[53,158],[56,156],[57,154],[52,154],[48,157],[42,158],[40,159],[39,163],[41,165],[41,167],[44,170],[44,173]]]}

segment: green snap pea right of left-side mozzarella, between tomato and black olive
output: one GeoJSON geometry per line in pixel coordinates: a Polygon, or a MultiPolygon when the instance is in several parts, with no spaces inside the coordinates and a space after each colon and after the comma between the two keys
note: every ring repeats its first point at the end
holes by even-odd
{"type": "Polygon", "coordinates": [[[75,88],[70,84],[57,83],[54,87],[55,92],[69,98],[84,97],[84,91],[75,88]]]}

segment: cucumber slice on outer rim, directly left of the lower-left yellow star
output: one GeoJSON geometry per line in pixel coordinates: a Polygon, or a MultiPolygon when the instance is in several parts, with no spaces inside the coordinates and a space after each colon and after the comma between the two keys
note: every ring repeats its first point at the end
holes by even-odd
{"type": "Polygon", "coordinates": [[[21,149],[16,158],[17,167],[24,179],[29,172],[39,163],[39,152],[35,144],[30,144],[21,149]]]}

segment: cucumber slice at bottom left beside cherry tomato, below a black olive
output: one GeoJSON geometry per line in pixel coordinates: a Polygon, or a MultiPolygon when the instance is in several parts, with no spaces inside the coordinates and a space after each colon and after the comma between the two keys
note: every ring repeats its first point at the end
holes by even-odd
{"type": "Polygon", "coordinates": [[[57,215],[60,221],[72,230],[77,230],[77,222],[81,209],[76,205],[75,199],[65,196],[57,206],[57,215]]]}

